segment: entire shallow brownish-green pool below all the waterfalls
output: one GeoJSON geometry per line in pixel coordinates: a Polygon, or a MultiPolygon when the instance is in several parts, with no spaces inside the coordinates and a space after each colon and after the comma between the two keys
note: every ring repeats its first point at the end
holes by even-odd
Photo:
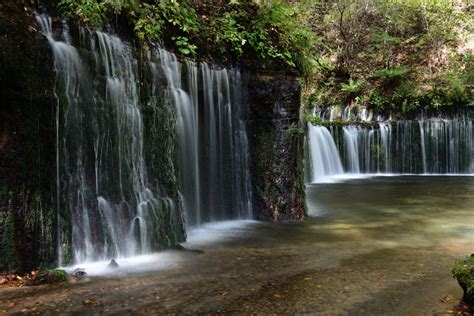
{"type": "Polygon", "coordinates": [[[451,268],[474,252],[474,177],[312,184],[307,199],[305,221],[208,224],[190,232],[194,251],[128,260],[120,278],[3,292],[0,307],[81,313],[93,297],[94,313],[420,315],[459,302],[451,268]]]}

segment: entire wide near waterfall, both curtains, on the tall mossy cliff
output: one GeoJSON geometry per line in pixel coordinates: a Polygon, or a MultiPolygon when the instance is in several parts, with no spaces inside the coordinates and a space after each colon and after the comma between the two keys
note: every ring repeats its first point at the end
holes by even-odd
{"type": "Polygon", "coordinates": [[[252,217],[238,70],[164,49],[139,62],[100,31],[80,30],[76,47],[67,24],[58,37],[37,22],[57,74],[59,264],[183,241],[181,205],[188,226],[252,217]]]}

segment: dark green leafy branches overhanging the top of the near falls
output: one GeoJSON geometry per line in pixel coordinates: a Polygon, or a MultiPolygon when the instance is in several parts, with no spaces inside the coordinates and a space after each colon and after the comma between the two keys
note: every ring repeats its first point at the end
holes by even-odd
{"type": "Polygon", "coordinates": [[[299,69],[310,69],[313,56],[309,24],[297,6],[284,1],[62,0],[60,6],[90,27],[101,26],[111,15],[125,16],[138,38],[164,41],[184,56],[236,61],[253,55],[264,65],[299,69]]]}

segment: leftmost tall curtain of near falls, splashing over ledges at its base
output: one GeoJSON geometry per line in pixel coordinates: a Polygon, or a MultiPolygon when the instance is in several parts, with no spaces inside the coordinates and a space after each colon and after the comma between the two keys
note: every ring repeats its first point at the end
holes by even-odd
{"type": "Polygon", "coordinates": [[[69,211],[71,227],[67,245],[58,223],[60,255],[72,251],[76,262],[130,256],[182,239],[175,201],[147,176],[134,50],[84,30],[78,48],[65,30],[54,38],[49,17],[37,21],[57,73],[58,212],[69,211]]]}

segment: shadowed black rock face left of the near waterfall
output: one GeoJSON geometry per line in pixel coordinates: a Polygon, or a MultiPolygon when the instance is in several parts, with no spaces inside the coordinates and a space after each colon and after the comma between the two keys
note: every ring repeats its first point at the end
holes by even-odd
{"type": "Polygon", "coordinates": [[[54,260],[53,60],[31,12],[0,4],[0,270],[54,260]]]}

